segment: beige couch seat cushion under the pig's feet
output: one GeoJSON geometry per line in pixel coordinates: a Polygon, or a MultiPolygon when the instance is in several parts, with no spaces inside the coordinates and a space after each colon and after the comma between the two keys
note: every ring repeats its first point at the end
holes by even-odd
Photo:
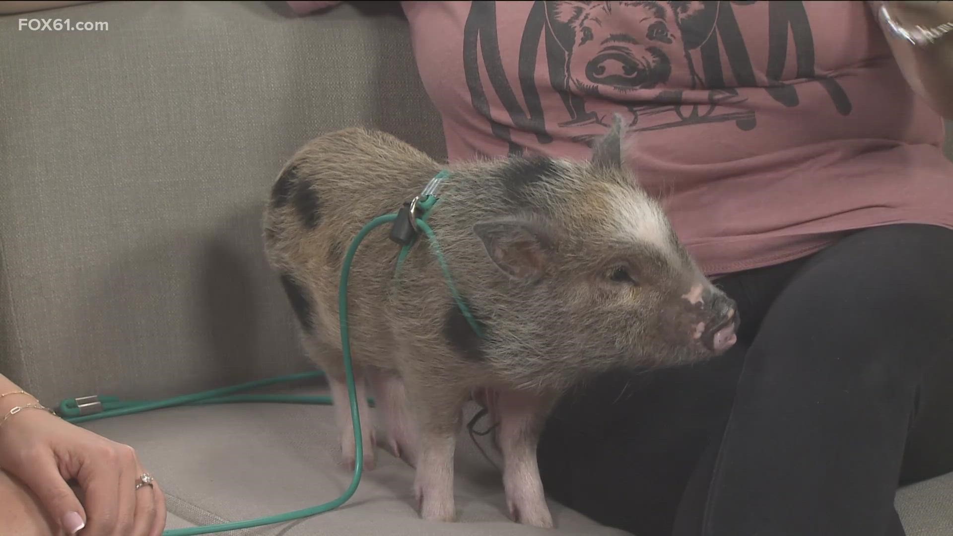
{"type": "MultiPolygon", "coordinates": [[[[373,410],[372,410],[373,411],[373,410]]],[[[472,409],[471,409],[472,413],[472,409]]],[[[338,497],[352,474],[338,463],[337,432],[329,406],[229,404],[184,407],[89,423],[107,437],[130,443],[168,495],[170,527],[241,521],[338,497]]],[[[491,459],[489,437],[477,439],[491,459]]],[[[355,496],[338,510],[299,522],[249,529],[284,536],[614,536],[578,513],[550,503],[558,529],[517,525],[506,517],[497,469],[461,432],[456,456],[455,524],[416,514],[413,469],[377,450],[355,496]]]]}

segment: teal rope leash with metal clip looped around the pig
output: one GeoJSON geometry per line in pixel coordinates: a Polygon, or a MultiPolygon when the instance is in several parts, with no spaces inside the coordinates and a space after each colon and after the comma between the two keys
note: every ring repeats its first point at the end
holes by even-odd
{"type": "MultiPolygon", "coordinates": [[[[354,425],[355,434],[355,472],[348,488],[336,499],[324,503],[323,505],[316,505],[310,508],[304,508],[295,510],[293,512],[287,512],[284,514],[267,516],[248,521],[210,526],[193,526],[189,528],[172,528],[164,531],[162,533],[163,536],[193,536],[196,534],[212,534],[216,532],[226,532],[242,528],[252,528],[255,526],[285,523],[329,512],[341,505],[344,505],[354,496],[355,492],[357,491],[357,486],[360,484],[361,475],[364,471],[364,446],[360,429],[360,412],[357,409],[354,365],[351,359],[351,336],[348,329],[348,280],[350,278],[351,265],[354,261],[355,254],[357,253],[357,248],[360,246],[360,243],[364,240],[364,238],[367,237],[367,235],[377,227],[387,223],[395,223],[395,228],[392,229],[391,234],[392,239],[395,239],[395,236],[399,234],[396,232],[398,227],[403,227],[406,229],[407,225],[409,225],[412,229],[412,231],[402,233],[403,237],[409,237],[410,239],[402,241],[403,247],[401,248],[400,255],[398,256],[397,260],[398,271],[400,266],[403,264],[403,261],[410,254],[414,242],[416,241],[418,230],[423,231],[423,234],[430,241],[431,250],[436,257],[437,262],[440,264],[440,269],[443,272],[443,276],[447,282],[447,286],[450,289],[451,295],[456,301],[457,307],[460,308],[460,312],[463,314],[464,318],[466,318],[467,322],[470,323],[470,326],[474,329],[476,334],[479,337],[483,336],[482,330],[480,329],[478,322],[476,322],[476,319],[473,317],[470,308],[467,307],[466,302],[462,299],[460,293],[456,289],[456,284],[454,284],[447,260],[444,258],[443,250],[440,248],[440,245],[437,242],[434,230],[426,221],[427,217],[430,216],[430,213],[436,207],[436,204],[439,203],[439,198],[436,197],[436,189],[439,187],[440,182],[448,176],[449,174],[447,172],[440,172],[430,181],[427,187],[424,188],[420,196],[415,197],[413,201],[401,208],[399,212],[385,216],[377,216],[364,225],[360,232],[357,233],[357,236],[354,238],[354,240],[352,240],[351,246],[348,248],[347,255],[344,258],[343,266],[341,268],[341,278],[337,290],[337,305],[341,329],[341,347],[344,354],[344,374],[345,381],[348,385],[348,403],[351,408],[351,421],[354,425]],[[420,209],[421,212],[419,215],[417,214],[416,209],[420,209]]],[[[400,242],[401,240],[395,239],[395,241],[400,242]]],[[[303,372],[264,380],[249,381],[238,385],[212,389],[200,393],[193,393],[191,395],[182,395],[162,401],[124,402],[116,397],[109,396],[92,396],[79,399],[67,399],[63,402],[60,402],[56,413],[65,421],[78,424],[181,405],[236,402],[312,403],[330,405],[333,403],[333,401],[331,397],[327,396],[233,394],[240,391],[264,387],[267,385],[274,385],[276,383],[313,380],[323,376],[324,373],[322,371],[303,372]]],[[[373,403],[374,401],[373,399],[369,399],[368,402],[373,403]]]]}

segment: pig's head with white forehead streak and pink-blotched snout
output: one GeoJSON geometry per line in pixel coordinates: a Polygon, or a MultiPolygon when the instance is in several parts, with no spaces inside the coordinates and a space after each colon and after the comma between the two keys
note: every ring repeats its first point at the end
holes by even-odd
{"type": "Polygon", "coordinates": [[[481,186],[504,200],[472,215],[483,257],[461,278],[488,323],[487,359],[514,381],[691,363],[736,340],[735,303],[623,164],[621,130],[617,115],[588,162],[513,160],[481,186]]]}

